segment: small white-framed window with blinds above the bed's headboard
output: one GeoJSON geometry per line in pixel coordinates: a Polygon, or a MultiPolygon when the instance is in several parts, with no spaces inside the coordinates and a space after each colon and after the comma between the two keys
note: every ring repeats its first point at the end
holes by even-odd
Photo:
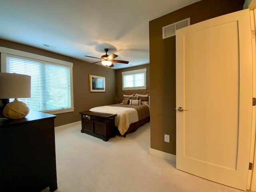
{"type": "Polygon", "coordinates": [[[123,90],[147,89],[146,71],[145,68],[122,72],[123,90]]]}

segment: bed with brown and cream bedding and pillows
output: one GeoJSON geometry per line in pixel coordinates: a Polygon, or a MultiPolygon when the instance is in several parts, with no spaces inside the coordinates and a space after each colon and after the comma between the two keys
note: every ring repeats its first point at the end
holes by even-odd
{"type": "Polygon", "coordinates": [[[117,134],[126,137],[127,134],[150,122],[149,99],[148,94],[124,94],[122,103],[98,106],[91,108],[90,111],[117,114],[115,118],[117,134]]]}

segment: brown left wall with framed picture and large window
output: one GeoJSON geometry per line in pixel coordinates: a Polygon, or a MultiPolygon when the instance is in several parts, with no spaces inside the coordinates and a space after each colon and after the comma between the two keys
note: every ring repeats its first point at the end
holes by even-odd
{"type": "Polygon", "coordinates": [[[60,126],[80,120],[79,112],[89,110],[95,106],[114,104],[115,98],[115,70],[97,64],[89,65],[88,62],[74,59],[68,56],[56,54],[46,50],[26,46],[15,42],[0,39],[0,46],[47,56],[73,63],[73,90],[74,112],[56,114],[55,126],[60,126]],[[106,92],[89,92],[89,74],[106,77],[106,92]]]}

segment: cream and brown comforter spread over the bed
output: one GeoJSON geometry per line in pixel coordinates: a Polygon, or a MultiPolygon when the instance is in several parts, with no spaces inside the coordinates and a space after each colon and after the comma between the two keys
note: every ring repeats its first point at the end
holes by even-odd
{"type": "Polygon", "coordinates": [[[142,108],[142,106],[134,106],[134,107],[135,108],[129,105],[116,104],[111,106],[94,107],[94,108],[91,108],[90,111],[117,114],[115,118],[115,126],[118,127],[120,134],[124,135],[124,133],[128,130],[130,124],[137,122],[142,118],[146,118],[146,116],[149,116],[149,112],[143,112],[143,114],[139,113],[138,108],[139,107],[142,108]]]}

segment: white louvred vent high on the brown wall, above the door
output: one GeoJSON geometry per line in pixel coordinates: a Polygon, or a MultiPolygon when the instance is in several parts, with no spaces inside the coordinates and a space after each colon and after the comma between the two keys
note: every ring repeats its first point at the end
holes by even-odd
{"type": "Polygon", "coordinates": [[[189,25],[190,25],[190,17],[184,20],[178,21],[176,23],[172,23],[170,25],[164,26],[163,39],[174,36],[176,34],[177,29],[181,29],[189,25]]]}

